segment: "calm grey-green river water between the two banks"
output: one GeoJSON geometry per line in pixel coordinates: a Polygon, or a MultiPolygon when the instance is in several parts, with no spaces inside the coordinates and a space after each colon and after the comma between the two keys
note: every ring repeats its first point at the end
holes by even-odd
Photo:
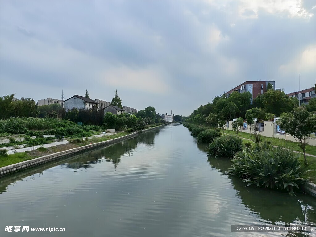
{"type": "Polygon", "coordinates": [[[232,233],[233,224],[308,223],[315,230],[316,199],[245,187],[227,174],[229,159],[205,149],[187,128],[167,125],[4,177],[0,236],[313,236],[232,233]]]}

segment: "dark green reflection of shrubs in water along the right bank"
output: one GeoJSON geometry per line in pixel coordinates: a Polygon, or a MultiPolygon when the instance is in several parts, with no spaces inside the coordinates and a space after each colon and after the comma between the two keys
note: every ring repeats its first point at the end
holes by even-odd
{"type": "MultiPolygon", "coordinates": [[[[206,146],[207,144],[198,144],[201,151],[205,151],[206,146]]],[[[241,203],[245,205],[247,210],[257,215],[260,222],[276,225],[303,222],[316,227],[313,223],[316,218],[313,208],[316,206],[316,200],[313,197],[304,194],[297,194],[297,197],[295,197],[288,193],[270,189],[255,186],[245,187],[245,183],[241,179],[228,174],[228,169],[231,167],[230,159],[208,156],[208,163],[216,171],[227,175],[231,179],[241,203]]]]}

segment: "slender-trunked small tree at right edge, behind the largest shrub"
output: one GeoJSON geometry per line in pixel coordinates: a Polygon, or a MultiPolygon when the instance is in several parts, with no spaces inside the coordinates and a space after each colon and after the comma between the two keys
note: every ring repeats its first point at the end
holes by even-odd
{"type": "Polygon", "coordinates": [[[282,113],[277,123],[282,130],[295,138],[303,150],[305,164],[307,164],[305,146],[308,136],[316,132],[316,115],[308,112],[304,106],[300,106],[291,112],[282,113]]]}

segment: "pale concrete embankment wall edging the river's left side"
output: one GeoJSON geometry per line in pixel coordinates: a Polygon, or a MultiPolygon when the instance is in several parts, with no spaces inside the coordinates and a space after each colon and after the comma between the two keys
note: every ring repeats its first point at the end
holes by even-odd
{"type": "MultiPolygon", "coordinates": [[[[163,124],[163,125],[160,125],[160,126],[157,126],[157,127],[148,128],[148,129],[142,130],[141,132],[147,132],[147,131],[150,131],[150,130],[153,130],[155,128],[159,128],[159,127],[162,127],[162,126],[165,126],[165,125],[163,124]]],[[[65,150],[65,151],[53,153],[53,154],[50,154],[50,155],[45,155],[45,156],[42,156],[42,157],[38,157],[38,158],[35,158],[35,159],[32,159],[32,160],[22,161],[22,162],[13,164],[13,165],[8,165],[8,166],[5,166],[5,167],[1,167],[0,168],[0,177],[3,177],[3,176],[5,176],[5,175],[7,175],[9,173],[14,173],[14,172],[18,172],[18,171],[21,171],[21,170],[24,170],[24,169],[27,169],[27,168],[30,168],[30,167],[38,166],[40,164],[44,164],[44,163],[49,162],[49,161],[61,159],[61,158],[64,158],[66,156],[69,156],[69,155],[74,155],[74,154],[80,153],[82,151],[86,151],[86,150],[89,150],[89,149],[95,149],[95,148],[99,148],[99,147],[103,147],[103,146],[107,146],[107,145],[112,145],[114,143],[118,143],[118,142],[124,141],[124,140],[126,140],[128,138],[135,137],[135,136],[137,136],[137,132],[133,132],[133,133],[128,134],[128,135],[123,136],[123,137],[114,138],[112,140],[99,142],[99,143],[88,144],[86,146],[76,147],[76,148],[73,148],[73,149],[70,149],[70,150],[65,150]]]]}

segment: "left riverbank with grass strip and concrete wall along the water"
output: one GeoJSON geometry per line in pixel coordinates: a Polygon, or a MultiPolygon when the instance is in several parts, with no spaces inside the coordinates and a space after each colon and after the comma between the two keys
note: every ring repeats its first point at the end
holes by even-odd
{"type": "MultiPolygon", "coordinates": [[[[165,126],[165,124],[141,130],[141,132],[146,132],[161,126],[165,126]]],[[[38,148],[33,151],[15,153],[7,156],[1,155],[0,177],[29,167],[34,167],[52,160],[60,159],[68,155],[73,155],[88,149],[112,145],[114,143],[121,142],[125,139],[137,136],[137,134],[138,132],[133,132],[130,134],[122,132],[111,136],[88,139],[88,141],[83,140],[65,145],[54,146],[52,148],[38,148]]]]}

